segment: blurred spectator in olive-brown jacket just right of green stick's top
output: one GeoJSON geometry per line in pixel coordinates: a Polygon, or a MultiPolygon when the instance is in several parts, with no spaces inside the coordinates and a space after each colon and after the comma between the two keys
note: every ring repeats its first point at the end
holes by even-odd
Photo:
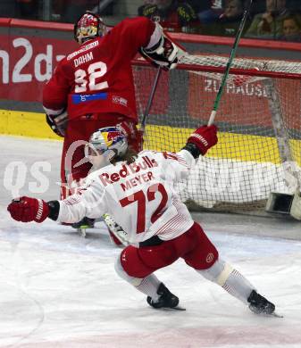
{"type": "Polygon", "coordinates": [[[266,0],[266,11],[255,15],[246,37],[279,38],[283,18],[288,14],[286,0],[266,0]]]}

